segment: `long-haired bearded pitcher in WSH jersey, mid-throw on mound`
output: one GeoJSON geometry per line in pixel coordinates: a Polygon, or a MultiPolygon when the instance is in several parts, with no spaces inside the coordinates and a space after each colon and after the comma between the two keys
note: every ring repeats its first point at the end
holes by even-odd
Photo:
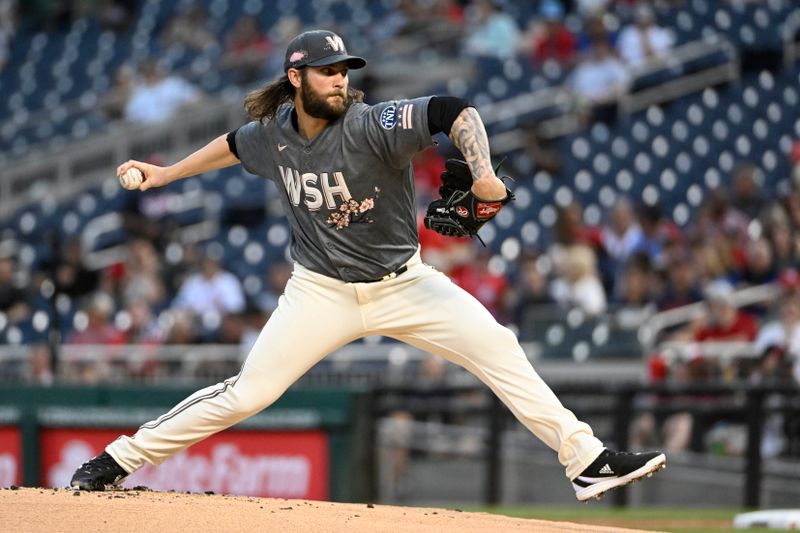
{"type": "MultiPolygon", "coordinates": [[[[328,353],[383,335],[438,354],[480,378],[557,454],[579,500],[661,469],[662,453],[606,449],[564,408],[515,335],[447,276],[422,263],[414,206],[414,154],[444,132],[464,155],[449,161],[425,224],[475,235],[513,199],[492,169],[476,110],[453,97],[363,103],[348,70],[366,65],[323,30],[288,46],[285,75],[250,93],[253,121],[178,163],[119,166],[142,191],[241,164],[273,180],[291,227],[294,271],[241,371],[200,390],[133,436],[83,464],[72,486],[103,490],[272,404],[328,353]],[[315,320],[309,334],[310,317],[315,320]]],[[[134,184],[135,185],[135,184],[134,184]]]]}

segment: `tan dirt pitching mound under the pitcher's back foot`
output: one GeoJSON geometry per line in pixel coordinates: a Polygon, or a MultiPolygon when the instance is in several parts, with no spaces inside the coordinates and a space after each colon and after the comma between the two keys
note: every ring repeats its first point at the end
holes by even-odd
{"type": "Polygon", "coordinates": [[[245,531],[346,533],[632,532],[569,522],[525,520],[456,510],[393,507],[147,490],[0,490],[0,529],[53,531],[245,531]]]}

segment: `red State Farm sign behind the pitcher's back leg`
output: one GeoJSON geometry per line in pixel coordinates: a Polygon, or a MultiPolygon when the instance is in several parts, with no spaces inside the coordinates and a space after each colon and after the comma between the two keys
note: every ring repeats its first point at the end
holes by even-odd
{"type": "MultiPolygon", "coordinates": [[[[75,469],[102,452],[120,433],[133,432],[43,429],[45,486],[68,486],[75,469]]],[[[225,431],[189,447],[158,467],[146,465],[122,486],[326,500],[328,479],[328,439],[321,431],[225,431]]]]}

